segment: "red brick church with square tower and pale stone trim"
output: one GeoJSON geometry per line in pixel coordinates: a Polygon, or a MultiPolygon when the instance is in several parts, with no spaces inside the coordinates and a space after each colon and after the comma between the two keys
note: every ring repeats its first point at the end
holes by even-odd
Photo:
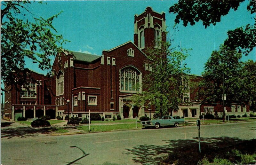
{"type": "MultiPolygon", "coordinates": [[[[5,86],[4,118],[13,121],[19,116],[49,115],[55,119],[65,117],[68,110],[70,117],[83,118],[89,110],[105,118],[149,115],[144,106],[133,105],[132,95],[142,91],[142,77],[151,71],[145,50],[157,47],[160,40],[166,41],[165,13],[147,7],[134,16],[134,42],[103,50],[101,56],[63,50],[54,60],[51,78],[31,71],[37,83],[21,87],[22,92],[5,86]]],[[[180,106],[173,115],[199,117],[204,112],[200,102],[193,101],[195,92],[188,95],[187,113],[180,106]]]]}

